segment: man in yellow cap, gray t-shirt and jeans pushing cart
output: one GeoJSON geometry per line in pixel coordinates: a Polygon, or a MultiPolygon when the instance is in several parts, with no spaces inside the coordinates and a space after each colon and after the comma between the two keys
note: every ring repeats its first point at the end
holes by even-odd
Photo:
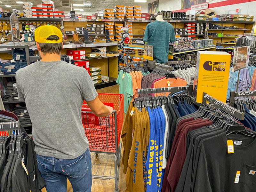
{"type": "Polygon", "coordinates": [[[31,118],[38,169],[47,192],[66,192],[67,178],[73,191],[90,192],[91,156],[81,106],[85,100],[97,116],[107,116],[113,108],[100,102],[84,68],[60,60],[58,28],[36,28],[35,41],[42,59],[19,69],[16,82],[31,118]]]}

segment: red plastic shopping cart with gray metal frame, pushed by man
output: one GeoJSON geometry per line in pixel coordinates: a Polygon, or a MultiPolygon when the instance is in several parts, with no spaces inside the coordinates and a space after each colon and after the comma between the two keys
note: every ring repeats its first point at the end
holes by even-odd
{"type": "Polygon", "coordinates": [[[106,117],[95,116],[86,102],[82,106],[82,122],[85,136],[89,141],[92,159],[92,178],[115,179],[115,192],[119,191],[119,166],[121,155],[120,136],[124,119],[124,95],[98,93],[102,103],[113,107],[114,111],[106,117]],[[115,172],[112,172],[112,165],[115,172]]]}

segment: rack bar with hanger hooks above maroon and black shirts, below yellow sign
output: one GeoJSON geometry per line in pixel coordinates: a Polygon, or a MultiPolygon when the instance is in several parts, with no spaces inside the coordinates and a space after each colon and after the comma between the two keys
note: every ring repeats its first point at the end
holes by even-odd
{"type": "Polygon", "coordinates": [[[210,96],[210,95],[208,95],[207,93],[204,92],[203,103],[202,104],[206,105],[206,101],[208,101],[213,106],[222,109],[226,113],[231,114],[232,116],[236,117],[237,119],[244,120],[244,112],[240,112],[239,110],[229,106],[226,103],[223,103],[220,100],[217,100],[217,99],[213,98],[212,96],[210,96]]]}

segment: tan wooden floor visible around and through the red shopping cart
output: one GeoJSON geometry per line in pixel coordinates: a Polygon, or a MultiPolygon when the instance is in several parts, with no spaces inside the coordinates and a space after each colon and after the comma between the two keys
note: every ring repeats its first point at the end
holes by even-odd
{"type": "MultiPolygon", "coordinates": [[[[98,89],[97,92],[100,93],[118,93],[119,92],[119,86],[118,85],[114,85],[111,87],[106,87],[103,89],[98,89]]],[[[125,114],[124,114],[124,119],[125,119],[125,114]]],[[[120,139],[120,142],[122,142],[122,140],[120,139]]],[[[121,150],[121,158],[122,159],[122,155],[123,155],[123,149],[121,150]]],[[[92,154],[92,161],[95,160],[97,157],[96,155],[92,154]]],[[[101,158],[100,160],[103,159],[103,161],[101,162],[102,164],[104,163],[104,161],[108,161],[108,164],[112,166],[97,166],[97,165],[93,165],[92,166],[92,172],[96,172],[98,170],[98,172],[104,172],[105,173],[109,173],[111,170],[111,175],[114,175],[114,162],[112,163],[112,161],[110,161],[110,158],[106,158],[106,156],[103,156],[102,154],[99,155],[97,161],[99,161],[99,158],[101,158]]],[[[67,188],[67,192],[73,192],[72,190],[72,186],[70,184],[70,182],[67,180],[68,182],[68,188],[67,188]]],[[[126,183],[125,183],[125,174],[123,173],[123,164],[122,162],[120,162],[120,172],[119,172],[119,185],[118,188],[120,189],[121,192],[123,192],[125,190],[126,187],[126,183]]],[[[92,179],[92,192],[114,192],[115,190],[115,180],[100,180],[100,179],[92,179]]],[[[42,190],[42,192],[46,192],[45,188],[42,190]]]]}

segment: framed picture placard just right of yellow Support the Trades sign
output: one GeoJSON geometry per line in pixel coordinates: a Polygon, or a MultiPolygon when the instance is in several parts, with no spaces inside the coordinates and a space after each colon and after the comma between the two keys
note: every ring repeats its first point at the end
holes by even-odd
{"type": "Polygon", "coordinates": [[[250,47],[251,46],[244,46],[234,49],[233,72],[246,68],[249,65],[250,47]]]}

